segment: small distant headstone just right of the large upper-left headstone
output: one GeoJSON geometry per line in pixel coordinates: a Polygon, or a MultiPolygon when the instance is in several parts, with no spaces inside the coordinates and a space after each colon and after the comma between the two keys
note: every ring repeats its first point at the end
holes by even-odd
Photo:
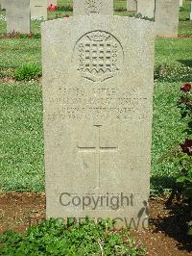
{"type": "Polygon", "coordinates": [[[47,0],[30,0],[31,16],[47,19],[47,0]]]}

